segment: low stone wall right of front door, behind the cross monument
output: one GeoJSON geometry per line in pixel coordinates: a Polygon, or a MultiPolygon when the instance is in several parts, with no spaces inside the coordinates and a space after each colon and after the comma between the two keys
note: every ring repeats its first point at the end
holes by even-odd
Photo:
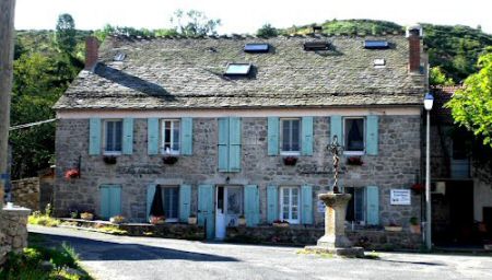
{"type": "MultiPolygon", "coordinates": [[[[258,226],[258,228],[227,228],[226,241],[242,243],[315,245],[325,234],[320,228],[302,226],[258,226]]],[[[410,249],[420,248],[422,237],[420,234],[402,232],[388,232],[384,230],[347,231],[347,236],[355,245],[365,249],[410,249]]]]}

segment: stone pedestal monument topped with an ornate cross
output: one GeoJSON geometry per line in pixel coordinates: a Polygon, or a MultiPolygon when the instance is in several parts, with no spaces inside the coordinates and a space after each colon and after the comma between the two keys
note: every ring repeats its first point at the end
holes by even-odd
{"type": "Polygon", "coordinates": [[[345,212],[347,205],[352,196],[341,194],[338,188],[338,166],[342,147],[338,143],[337,136],[333,142],[327,147],[333,154],[333,186],[332,191],[318,195],[318,198],[325,202],[325,235],[318,240],[316,246],[306,246],[305,249],[312,253],[328,253],[345,257],[363,257],[362,247],[353,247],[352,243],[345,236],[345,212]]]}

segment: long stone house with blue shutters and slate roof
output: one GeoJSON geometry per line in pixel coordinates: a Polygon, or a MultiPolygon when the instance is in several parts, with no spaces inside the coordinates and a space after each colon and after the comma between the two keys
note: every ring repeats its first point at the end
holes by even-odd
{"type": "Polygon", "coordinates": [[[185,222],[223,238],[324,222],[337,136],[352,226],[421,215],[422,31],[371,36],[87,38],[55,105],[55,208],[185,222]],[[65,178],[77,168],[75,178],[65,178]],[[391,200],[393,198],[393,200],[391,200]]]}

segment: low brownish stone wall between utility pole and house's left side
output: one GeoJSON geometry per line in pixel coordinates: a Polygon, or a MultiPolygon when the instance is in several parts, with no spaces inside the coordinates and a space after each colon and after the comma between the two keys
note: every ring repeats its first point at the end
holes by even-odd
{"type": "Polygon", "coordinates": [[[12,180],[12,202],[16,206],[39,210],[39,178],[12,180]]]}

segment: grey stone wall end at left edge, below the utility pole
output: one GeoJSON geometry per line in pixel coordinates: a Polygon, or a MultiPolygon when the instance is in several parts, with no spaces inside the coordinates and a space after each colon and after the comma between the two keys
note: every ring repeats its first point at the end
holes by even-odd
{"type": "Polygon", "coordinates": [[[27,246],[27,215],[25,208],[0,210],[0,265],[9,252],[19,253],[27,246]]]}

